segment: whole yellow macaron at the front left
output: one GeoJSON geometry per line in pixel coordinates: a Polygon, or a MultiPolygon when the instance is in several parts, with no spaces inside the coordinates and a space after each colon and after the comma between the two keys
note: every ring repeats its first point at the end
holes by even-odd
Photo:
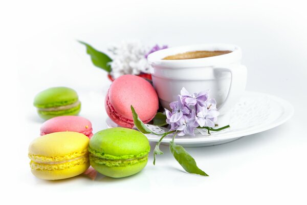
{"type": "Polygon", "coordinates": [[[90,167],[90,139],[77,132],[55,132],[38,137],[29,146],[31,172],[40,179],[77,176],[90,167]]]}

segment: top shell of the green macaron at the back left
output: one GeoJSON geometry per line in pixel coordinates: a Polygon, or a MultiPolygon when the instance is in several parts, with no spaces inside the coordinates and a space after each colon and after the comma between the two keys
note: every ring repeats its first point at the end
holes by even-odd
{"type": "Polygon", "coordinates": [[[51,108],[70,105],[78,100],[75,90],[67,87],[54,87],[43,90],[34,98],[34,106],[37,108],[51,108]]]}

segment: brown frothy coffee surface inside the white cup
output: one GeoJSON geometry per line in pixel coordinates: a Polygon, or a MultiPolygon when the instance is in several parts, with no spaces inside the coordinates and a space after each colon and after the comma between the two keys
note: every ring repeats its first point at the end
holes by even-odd
{"type": "Polygon", "coordinates": [[[232,51],[189,51],[185,53],[178,53],[175,55],[169,55],[163,58],[163,60],[183,60],[193,58],[205,58],[217,55],[223,55],[231,53],[232,51]]]}

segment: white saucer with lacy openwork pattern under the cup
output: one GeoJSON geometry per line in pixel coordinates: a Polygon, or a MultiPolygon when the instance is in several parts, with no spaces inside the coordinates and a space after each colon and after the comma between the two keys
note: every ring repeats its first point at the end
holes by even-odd
{"type": "MultiPolygon", "coordinates": [[[[264,93],[245,92],[239,103],[230,111],[230,128],[212,132],[199,130],[196,136],[176,136],[175,142],[183,147],[205,147],[220,145],[240,137],[263,132],[286,122],[293,115],[293,106],[288,101],[264,93]]],[[[106,119],[107,127],[119,127],[111,119],[106,119]]],[[[156,133],[168,129],[146,125],[156,133]]],[[[149,141],[159,141],[161,136],[145,134],[149,141]]],[[[164,137],[162,142],[168,143],[172,135],[164,137]]]]}

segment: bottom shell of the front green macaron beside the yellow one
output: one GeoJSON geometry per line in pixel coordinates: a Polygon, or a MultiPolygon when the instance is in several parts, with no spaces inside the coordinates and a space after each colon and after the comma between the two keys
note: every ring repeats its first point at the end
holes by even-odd
{"type": "Polygon", "coordinates": [[[142,161],[140,163],[136,163],[134,165],[124,166],[124,167],[107,167],[105,165],[100,165],[91,160],[91,166],[97,170],[99,173],[113,178],[121,178],[126,176],[134,175],[140,172],[147,164],[147,160],[142,161]]]}

